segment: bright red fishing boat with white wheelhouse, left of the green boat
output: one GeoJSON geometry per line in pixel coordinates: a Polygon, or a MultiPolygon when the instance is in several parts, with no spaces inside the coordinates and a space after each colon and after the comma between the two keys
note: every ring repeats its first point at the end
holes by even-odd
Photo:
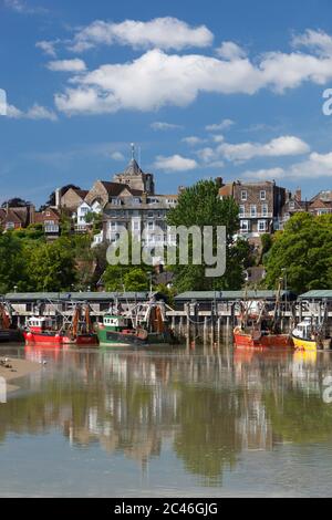
{"type": "Polygon", "coordinates": [[[89,308],[85,309],[84,321],[81,321],[81,305],[76,305],[72,320],[65,318],[59,325],[56,318],[29,318],[23,331],[27,344],[95,346],[97,336],[92,330],[89,308]]]}

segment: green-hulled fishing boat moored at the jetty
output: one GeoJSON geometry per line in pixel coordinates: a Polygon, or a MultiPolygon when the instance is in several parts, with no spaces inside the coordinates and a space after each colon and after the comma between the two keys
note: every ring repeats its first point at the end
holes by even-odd
{"type": "MultiPolygon", "coordinates": [[[[112,309],[113,310],[113,309],[112,309]]],[[[173,332],[168,327],[164,302],[139,303],[127,313],[106,313],[97,325],[102,346],[173,344],[173,332]]]]}

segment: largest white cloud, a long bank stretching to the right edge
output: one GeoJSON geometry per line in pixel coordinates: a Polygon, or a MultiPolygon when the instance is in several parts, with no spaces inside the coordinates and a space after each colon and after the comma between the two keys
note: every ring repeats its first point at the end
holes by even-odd
{"type": "MultiPolygon", "coordinates": [[[[145,29],[147,23],[155,27],[155,22],[146,22],[145,29]]],[[[146,32],[148,41],[152,41],[152,30],[146,32]]],[[[168,48],[176,46],[169,32],[167,41],[168,48]]],[[[269,89],[282,94],[304,82],[323,85],[330,80],[332,52],[329,55],[270,52],[250,61],[248,58],[225,60],[203,54],[166,54],[154,49],[132,62],[105,64],[71,77],[68,89],[55,94],[55,103],[69,115],[154,111],[168,105],[187,106],[200,93],[251,95],[269,89]]],[[[208,125],[208,128],[220,131],[224,124],[208,125]]]]}

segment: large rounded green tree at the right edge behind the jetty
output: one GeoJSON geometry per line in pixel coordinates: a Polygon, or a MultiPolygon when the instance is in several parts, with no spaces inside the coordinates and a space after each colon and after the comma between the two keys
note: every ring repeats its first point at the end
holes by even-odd
{"type": "Polygon", "coordinates": [[[266,256],[269,288],[287,278],[288,288],[297,293],[332,285],[332,215],[314,217],[300,212],[276,233],[266,256]]]}

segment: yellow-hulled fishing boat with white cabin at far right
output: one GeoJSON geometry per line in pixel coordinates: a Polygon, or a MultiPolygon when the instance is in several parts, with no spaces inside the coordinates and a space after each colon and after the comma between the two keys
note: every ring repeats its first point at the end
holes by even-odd
{"type": "Polygon", "coordinates": [[[317,326],[310,318],[303,321],[292,331],[294,347],[299,351],[315,352],[322,349],[331,349],[331,339],[323,337],[322,326],[317,326]]]}

